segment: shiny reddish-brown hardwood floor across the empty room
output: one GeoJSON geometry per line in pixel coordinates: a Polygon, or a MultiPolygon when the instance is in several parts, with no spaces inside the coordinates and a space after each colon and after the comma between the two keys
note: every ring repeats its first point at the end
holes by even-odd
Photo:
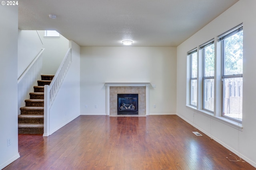
{"type": "MultiPolygon", "coordinates": [[[[48,137],[19,135],[4,170],[255,170],[176,115],[81,115],[48,137]]],[[[236,156],[238,158],[238,156],[236,156]]]]}

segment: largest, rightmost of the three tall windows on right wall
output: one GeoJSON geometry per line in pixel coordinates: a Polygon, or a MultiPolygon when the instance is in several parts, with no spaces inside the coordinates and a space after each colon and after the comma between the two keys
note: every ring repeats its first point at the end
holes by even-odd
{"type": "Polygon", "coordinates": [[[218,38],[222,55],[222,116],[242,121],[243,25],[218,38]]]}

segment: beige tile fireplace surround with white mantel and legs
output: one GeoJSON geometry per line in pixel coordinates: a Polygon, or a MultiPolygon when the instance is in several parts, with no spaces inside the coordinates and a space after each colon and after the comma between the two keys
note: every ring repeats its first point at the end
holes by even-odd
{"type": "Polygon", "coordinates": [[[105,83],[106,113],[117,115],[117,94],[138,94],[138,116],[149,115],[150,83],[105,83]]]}

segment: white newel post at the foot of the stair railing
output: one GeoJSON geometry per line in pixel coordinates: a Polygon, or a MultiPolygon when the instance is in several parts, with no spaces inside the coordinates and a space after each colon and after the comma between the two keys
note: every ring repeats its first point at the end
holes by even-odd
{"type": "Polygon", "coordinates": [[[50,95],[49,95],[49,85],[44,86],[44,135],[49,136],[49,105],[50,105],[50,95]]]}

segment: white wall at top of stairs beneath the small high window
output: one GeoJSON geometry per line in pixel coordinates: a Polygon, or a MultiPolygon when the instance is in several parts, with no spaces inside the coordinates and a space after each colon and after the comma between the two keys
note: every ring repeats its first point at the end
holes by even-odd
{"type": "Polygon", "coordinates": [[[60,37],[44,37],[44,31],[38,31],[43,42],[43,69],[42,74],[55,74],[69,48],[69,41],[60,37]]]}

